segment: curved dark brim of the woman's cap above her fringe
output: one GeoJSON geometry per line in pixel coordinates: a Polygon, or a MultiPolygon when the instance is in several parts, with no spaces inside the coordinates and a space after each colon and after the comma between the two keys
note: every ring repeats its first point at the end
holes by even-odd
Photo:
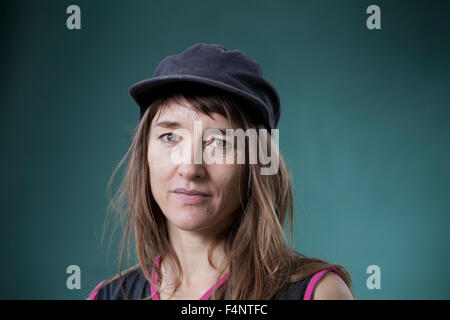
{"type": "Polygon", "coordinates": [[[139,118],[142,117],[145,110],[158,97],[160,93],[158,89],[163,89],[167,88],[169,85],[182,83],[205,85],[212,88],[222,89],[228,93],[237,95],[238,97],[243,98],[250,102],[246,106],[248,110],[244,111],[247,111],[249,115],[253,114],[253,112],[257,112],[262,117],[266,126],[269,126],[269,128],[274,128],[273,125],[274,120],[270,118],[270,113],[267,110],[267,106],[258,97],[250,95],[247,92],[232,87],[226,83],[191,75],[171,75],[171,76],[153,77],[133,84],[129,89],[129,94],[133,98],[133,100],[136,101],[136,103],[139,105],[140,108],[139,118]]]}

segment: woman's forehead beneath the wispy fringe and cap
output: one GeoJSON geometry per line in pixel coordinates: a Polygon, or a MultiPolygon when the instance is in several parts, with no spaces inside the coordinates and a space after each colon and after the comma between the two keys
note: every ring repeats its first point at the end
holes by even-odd
{"type": "Polygon", "coordinates": [[[191,125],[193,121],[201,121],[208,127],[232,127],[232,123],[223,115],[212,112],[209,115],[203,113],[187,101],[182,104],[169,100],[164,107],[156,113],[152,120],[152,127],[162,121],[178,122],[182,125],[191,125]]]}

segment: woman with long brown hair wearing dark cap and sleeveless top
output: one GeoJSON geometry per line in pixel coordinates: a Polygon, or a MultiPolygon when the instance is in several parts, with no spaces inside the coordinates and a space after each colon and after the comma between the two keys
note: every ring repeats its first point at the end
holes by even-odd
{"type": "Polygon", "coordinates": [[[113,202],[126,220],[119,273],[88,299],[353,299],[344,267],[287,243],[292,186],[271,134],[280,101],[256,61],[197,44],[165,58],[130,94],[140,121],[113,202]],[[277,170],[262,174],[250,136],[242,147],[227,129],[269,132],[257,141],[278,155],[277,170]],[[216,161],[202,161],[208,155],[216,161]],[[131,232],[139,264],[121,271],[131,232]]]}

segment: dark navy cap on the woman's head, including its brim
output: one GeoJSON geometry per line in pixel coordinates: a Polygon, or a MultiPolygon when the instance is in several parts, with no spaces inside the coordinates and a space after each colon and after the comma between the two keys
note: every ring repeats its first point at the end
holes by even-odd
{"type": "Polygon", "coordinates": [[[280,97],[264,79],[261,66],[239,50],[217,44],[195,44],[178,55],[164,58],[153,77],[133,84],[129,93],[139,105],[139,120],[160,89],[177,83],[197,83],[225,90],[250,102],[242,110],[257,112],[269,129],[280,120],[280,97]]]}

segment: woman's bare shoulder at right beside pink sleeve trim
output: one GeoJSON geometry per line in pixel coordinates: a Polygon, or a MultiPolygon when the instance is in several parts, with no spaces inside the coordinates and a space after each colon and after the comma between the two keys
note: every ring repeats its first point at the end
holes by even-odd
{"type": "Polygon", "coordinates": [[[312,300],[354,300],[342,278],[333,270],[322,270],[314,275],[309,285],[312,300]]]}

